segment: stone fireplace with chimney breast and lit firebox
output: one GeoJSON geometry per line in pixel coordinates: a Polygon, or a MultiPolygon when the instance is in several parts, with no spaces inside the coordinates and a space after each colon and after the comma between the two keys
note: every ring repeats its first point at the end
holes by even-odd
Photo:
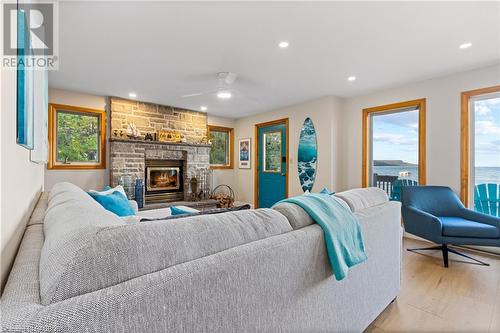
{"type": "MultiPolygon", "coordinates": [[[[144,180],[146,205],[188,201],[189,176],[209,167],[210,145],[202,144],[207,133],[205,113],[150,103],[111,98],[110,177],[116,186],[124,177],[144,180]],[[159,142],[117,136],[134,123],[141,134],[175,130],[186,142],[159,142]]],[[[129,191],[133,192],[133,191],[129,191]]],[[[134,193],[128,193],[134,198],[134,193]]]]}

